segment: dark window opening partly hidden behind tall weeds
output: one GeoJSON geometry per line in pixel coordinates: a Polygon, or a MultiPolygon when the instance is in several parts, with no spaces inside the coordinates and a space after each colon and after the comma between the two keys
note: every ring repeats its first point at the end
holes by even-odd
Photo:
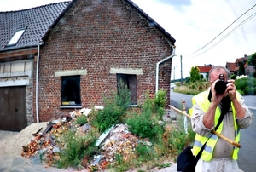
{"type": "MultiPolygon", "coordinates": [[[[136,75],[117,74],[117,83],[123,81],[124,86],[130,90],[131,105],[137,105],[137,77],[136,75]]],[[[119,88],[118,88],[119,89],[119,88]]],[[[119,93],[119,90],[118,90],[119,93]]]]}

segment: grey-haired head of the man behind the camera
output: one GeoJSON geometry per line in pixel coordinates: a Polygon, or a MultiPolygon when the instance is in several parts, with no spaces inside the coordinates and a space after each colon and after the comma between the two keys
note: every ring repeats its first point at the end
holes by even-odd
{"type": "Polygon", "coordinates": [[[216,81],[220,74],[224,75],[224,81],[230,78],[230,71],[224,66],[212,66],[212,69],[209,72],[209,83],[212,84],[216,81]]]}

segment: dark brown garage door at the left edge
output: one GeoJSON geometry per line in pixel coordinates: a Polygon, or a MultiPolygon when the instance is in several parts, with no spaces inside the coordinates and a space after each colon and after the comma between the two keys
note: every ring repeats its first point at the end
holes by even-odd
{"type": "Polygon", "coordinates": [[[26,128],[26,86],[0,88],[0,129],[26,128]]]}

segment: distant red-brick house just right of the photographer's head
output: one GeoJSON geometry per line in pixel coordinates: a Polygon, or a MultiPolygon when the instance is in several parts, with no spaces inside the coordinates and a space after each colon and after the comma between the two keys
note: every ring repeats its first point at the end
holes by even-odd
{"type": "Polygon", "coordinates": [[[253,66],[248,65],[247,59],[248,59],[248,56],[245,54],[244,57],[236,59],[234,63],[227,62],[226,68],[230,70],[231,75],[239,76],[240,75],[239,66],[240,66],[240,63],[242,63],[245,68],[245,74],[249,75],[250,73],[255,72],[255,69],[253,68],[253,66]]]}

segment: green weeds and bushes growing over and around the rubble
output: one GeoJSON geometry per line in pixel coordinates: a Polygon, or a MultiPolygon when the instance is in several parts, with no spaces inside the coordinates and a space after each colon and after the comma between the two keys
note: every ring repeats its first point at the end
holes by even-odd
{"type": "Polygon", "coordinates": [[[161,89],[152,99],[147,92],[143,105],[128,109],[129,98],[129,89],[121,87],[118,94],[105,98],[102,110],[90,112],[90,118],[78,118],[77,125],[90,122],[91,129],[86,134],[79,132],[76,127],[63,132],[57,143],[62,147],[61,152],[59,158],[53,161],[54,165],[65,169],[73,167],[98,170],[96,166],[88,167],[84,164],[90,161],[93,155],[101,152],[100,148],[95,146],[96,140],[112,125],[127,123],[129,131],[137,135],[140,141],[129,156],[115,154],[115,163],[109,163],[107,168],[114,171],[137,168],[138,171],[143,171],[140,169],[142,166],[146,166],[147,170],[170,166],[166,159],[175,161],[178,153],[194,141],[195,133],[191,129],[189,134],[184,132],[183,118],[177,118],[177,123],[172,123],[172,120],[163,121],[163,115],[166,113],[165,90],[161,89]]]}

